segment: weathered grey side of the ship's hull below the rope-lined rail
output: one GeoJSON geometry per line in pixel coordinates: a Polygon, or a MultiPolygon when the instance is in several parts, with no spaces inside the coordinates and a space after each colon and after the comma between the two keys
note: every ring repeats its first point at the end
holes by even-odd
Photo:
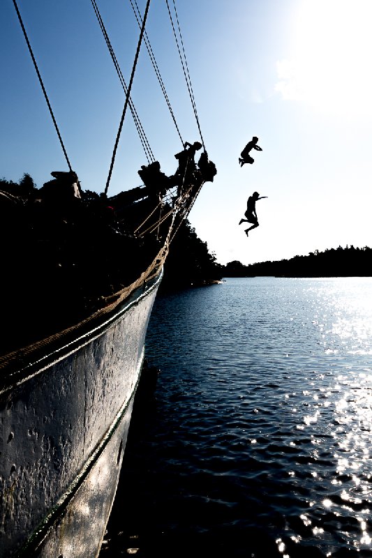
{"type": "Polygon", "coordinates": [[[1,557],[98,554],[160,280],[3,377],[1,557]]]}

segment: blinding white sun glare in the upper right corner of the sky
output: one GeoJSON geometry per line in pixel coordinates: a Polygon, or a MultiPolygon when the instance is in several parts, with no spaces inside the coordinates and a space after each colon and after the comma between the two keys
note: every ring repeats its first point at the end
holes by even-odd
{"type": "Polygon", "coordinates": [[[276,91],[322,112],[372,116],[371,0],[303,0],[276,91]]]}

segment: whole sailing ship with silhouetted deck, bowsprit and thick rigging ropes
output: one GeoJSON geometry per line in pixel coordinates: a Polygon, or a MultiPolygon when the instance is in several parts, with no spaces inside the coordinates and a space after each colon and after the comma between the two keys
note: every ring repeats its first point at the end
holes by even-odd
{"type": "Polygon", "coordinates": [[[205,149],[197,167],[202,144],[182,141],[174,176],[153,160],[138,171],[143,186],[107,197],[148,0],[105,192],[82,192],[13,3],[70,171],[52,172],[40,190],[0,188],[0,558],[92,558],[117,489],[163,264],[216,167],[205,149]]]}

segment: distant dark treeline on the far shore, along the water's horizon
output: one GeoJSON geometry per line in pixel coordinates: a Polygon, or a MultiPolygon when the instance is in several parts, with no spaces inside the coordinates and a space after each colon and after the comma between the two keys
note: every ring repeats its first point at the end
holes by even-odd
{"type": "Polygon", "coordinates": [[[307,256],[281,259],[280,262],[260,262],[244,266],[241,262],[229,262],[223,269],[225,277],[370,277],[372,249],[331,248],[310,252],[307,256]]]}

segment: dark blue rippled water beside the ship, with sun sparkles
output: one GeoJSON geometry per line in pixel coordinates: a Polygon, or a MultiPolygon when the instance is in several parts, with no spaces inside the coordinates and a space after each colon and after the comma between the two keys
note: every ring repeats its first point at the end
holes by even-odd
{"type": "Polygon", "coordinates": [[[371,278],[158,296],[147,357],[103,557],[372,556],[371,278]]]}

